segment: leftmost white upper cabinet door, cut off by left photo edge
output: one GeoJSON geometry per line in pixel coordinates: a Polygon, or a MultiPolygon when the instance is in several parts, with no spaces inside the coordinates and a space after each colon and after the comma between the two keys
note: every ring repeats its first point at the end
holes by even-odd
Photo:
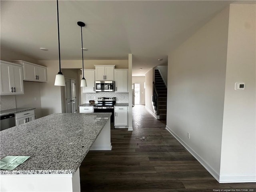
{"type": "Polygon", "coordinates": [[[1,74],[1,82],[0,82],[0,90],[1,95],[4,94],[12,94],[11,90],[11,81],[10,81],[10,65],[6,63],[0,63],[0,74],[1,74]]]}

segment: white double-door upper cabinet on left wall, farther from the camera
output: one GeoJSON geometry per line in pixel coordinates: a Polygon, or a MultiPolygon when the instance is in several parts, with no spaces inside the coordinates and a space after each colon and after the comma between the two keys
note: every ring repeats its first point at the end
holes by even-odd
{"type": "Polygon", "coordinates": [[[47,68],[34,63],[15,60],[15,63],[22,64],[24,81],[47,82],[47,68]]]}

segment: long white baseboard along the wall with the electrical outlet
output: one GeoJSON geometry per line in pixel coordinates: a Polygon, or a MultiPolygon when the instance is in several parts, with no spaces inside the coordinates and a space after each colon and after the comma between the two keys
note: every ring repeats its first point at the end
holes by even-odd
{"type": "Polygon", "coordinates": [[[166,130],[168,130],[170,132],[170,134],[172,134],[177,140],[178,142],[180,142],[180,144],[182,144],[186,150],[188,150],[188,152],[190,152],[190,154],[192,154],[192,156],[194,156],[194,158],[196,158],[196,160],[198,160],[198,162],[204,166],[204,168],[206,168],[206,170],[218,181],[220,182],[219,178],[220,175],[207,163],[203,160],[203,158],[201,158],[192,148],[190,148],[190,146],[188,146],[178,135],[176,135],[167,125],[166,125],[166,130]]]}

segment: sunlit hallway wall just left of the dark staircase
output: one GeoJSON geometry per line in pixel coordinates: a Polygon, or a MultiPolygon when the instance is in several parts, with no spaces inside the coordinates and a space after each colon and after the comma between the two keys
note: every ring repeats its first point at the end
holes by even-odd
{"type": "Polygon", "coordinates": [[[146,89],[145,89],[145,107],[152,113],[154,113],[153,106],[152,106],[152,94],[153,94],[153,69],[149,70],[145,74],[145,82],[146,82],[146,89]]]}

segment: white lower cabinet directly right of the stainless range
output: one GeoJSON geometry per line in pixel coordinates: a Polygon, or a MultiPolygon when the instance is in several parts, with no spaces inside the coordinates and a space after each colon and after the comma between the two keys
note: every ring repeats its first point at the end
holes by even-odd
{"type": "Polygon", "coordinates": [[[115,128],[126,128],[128,126],[128,107],[114,107],[114,126],[115,128]]]}

